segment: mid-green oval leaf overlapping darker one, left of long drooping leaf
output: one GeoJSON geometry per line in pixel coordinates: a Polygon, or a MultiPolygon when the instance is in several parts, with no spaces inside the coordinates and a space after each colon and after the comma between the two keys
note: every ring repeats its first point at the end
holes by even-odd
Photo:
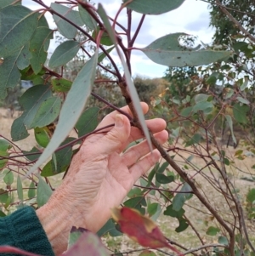
{"type": "Polygon", "coordinates": [[[30,124],[30,127],[42,128],[51,122],[54,122],[59,116],[60,107],[61,100],[59,97],[51,97],[43,100],[30,124]]]}

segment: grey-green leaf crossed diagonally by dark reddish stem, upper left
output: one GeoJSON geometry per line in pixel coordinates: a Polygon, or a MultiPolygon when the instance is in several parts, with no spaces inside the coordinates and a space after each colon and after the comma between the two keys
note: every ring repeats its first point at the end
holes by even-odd
{"type": "MultiPolygon", "coordinates": [[[[51,3],[50,7],[51,9],[54,9],[54,11],[56,11],[58,14],[64,16],[66,19],[71,20],[71,22],[77,26],[83,26],[79,12],[59,3],[51,3]]],[[[53,15],[53,18],[56,25],[58,26],[59,33],[61,33],[64,37],[73,39],[76,36],[77,28],[75,26],[72,26],[69,22],[63,20],[56,14],[53,15]]]]}

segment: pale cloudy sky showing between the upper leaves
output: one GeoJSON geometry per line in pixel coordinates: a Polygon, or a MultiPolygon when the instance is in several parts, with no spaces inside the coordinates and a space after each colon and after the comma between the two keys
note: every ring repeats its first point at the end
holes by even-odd
{"type": "MultiPolygon", "coordinates": [[[[43,0],[48,5],[54,1],[43,0]]],[[[115,16],[116,10],[122,3],[121,0],[94,0],[94,3],[102,3],[107,14],[115,16]]],[[[23,0],[23,4],[31,9],[37,9],[37,5],[31,0],[23,0]]],[[[139,22],[141,14],[133,13],[133,24],[139,22]]],[[[126,12],[122,11],[120,22],[126,25],[126,12]]],[[[48,15],[48,22],[54,28],[54,22],[48,15]]],[[[135,46],[143,48],[150,44],[156,38],[165,36],[169,33],[184,32],[197,36],[203,43],[211,43],[213,31],[209,27],[209,11],[207,3],[199,0],[186,0],[178,9],[167,14],[148,15],[144,20],[144,25],[140,31],[135,46]]],[[[51,51],[54,51],[54,43],[51,44],[51,51]]],[[[117,56],[113,53],[113,58],[117,60],[117,56]]],[[[143,77],[162,77],[167,66],[157,65],[150,61],[140,51],[133,51],[132,54],[133,75],[139,74],[143,77]]]]}

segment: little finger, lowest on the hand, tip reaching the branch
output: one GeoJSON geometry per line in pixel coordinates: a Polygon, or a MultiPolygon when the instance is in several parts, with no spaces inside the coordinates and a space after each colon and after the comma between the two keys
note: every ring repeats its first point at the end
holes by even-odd
{"type": "Polygon", "coordinates": [[[129,168],[129,172],[133,176],[133,182],[135,183],[143,174],[148,172],[160,158],[160,152],[154,150],[129,168]]]}

